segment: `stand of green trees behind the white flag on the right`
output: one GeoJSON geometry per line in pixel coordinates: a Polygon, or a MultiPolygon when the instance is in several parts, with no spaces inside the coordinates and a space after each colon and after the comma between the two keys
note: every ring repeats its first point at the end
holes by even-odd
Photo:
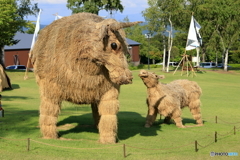
{"type": "MultiPolygon", "coordinates": [[[[148,0],[148,5],[142,13],[148,22],[146,28],[159,35],[156,37],[162,43],[159,51],[166,46],[160,39],[166,26],[172,22],[177,31],[173,38],[173,60],[179,60],[185,50],[191,15],[194,15],[201,25],[201,61],[221,62],[225,71],[229,61],[240,62],[239,0],[148,0]]],[[[163,36],[163,39],[168,38],[163,36]]],[[[196,51],[187,54],[196,55],[196,51]]]]}

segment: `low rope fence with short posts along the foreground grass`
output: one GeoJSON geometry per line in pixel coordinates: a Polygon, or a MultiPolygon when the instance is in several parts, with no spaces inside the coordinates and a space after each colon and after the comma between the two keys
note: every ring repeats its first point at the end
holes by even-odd
{"type": "MultiPolygon", "coordinates": [[[[129,144],[114,144],[111,145],[110,147],[100,147],[100,148],[74,148],[74,147],[63,147],[63,146],[57,146],[57,145],[53,145],[53,144],[49,144],[49,143],[44,143],[44,142],[40,142],[31,138],[27,138],[27,139],[10,139],[10,138],[4,138],[4,137],[0,137],[0,139],[4,139],[4,140],[9,140],[9,141],[26,141],[26,150],[30,151],[30,146],[31,143],[38,143],[41,145],[47,145],[47,146],[52,146],[52,147],[57,147],[57,148],[65,148],[65,149],[81,149],[81,150],[95,150],[95,149],[107,149],[107,148],[113,148],[113,147],[122,147],[123,148],[123,157],[127,157],[127,148],[135,148],[135,149],[139,149],[139,150],[174,150],[174,149],[178,149],[178,148],[183,148],[186,146],[192,146],[193,147],[193,151],[198,152],[201,148],[206,148],[208,146],[210,146],[211,144],[217,143],[219,140],[219,137],[226,137],[226,136],[230,136],[230,135],[236,135],[237,132],[240,132],[240,122],[227,122],[225,120],[222,120],[221,118],[219,118],[218,116],[215,117],[215,123],[219,123],[219,121],[221,121],[222,123],[225,124],[234,124],[233,128],[231,130],[229,130],[227,133],[219,133],[217,131],[215,131],[212,135],[206,135],[203,138],[200,138],[198,140],[189,142],[187,144],[184,145],[180,145],[177,147],[171,147],[171,148],[160,148],[160,149],[150,149],[150,148],[141,148],[141,147],[136,147],[133,145],[129,145],[129,144]],[[237,124],[239,124],[239,126],[237,126],[237,124]],[[211,138],[211,142],[208,144],[201,144],[201,140],[203,139],[207,139],[207,138],[211,138]]],[[[78,140],[79,141],[79,140],[78,140]]],[[[238,142],[236,142],[238,143],[238,142]]]]}

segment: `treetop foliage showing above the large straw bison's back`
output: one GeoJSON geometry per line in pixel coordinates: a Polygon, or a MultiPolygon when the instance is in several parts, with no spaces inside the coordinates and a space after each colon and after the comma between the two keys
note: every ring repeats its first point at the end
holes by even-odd
{"type": "Polygon", "coordinates": [[[123,11],[121,0],[68,0],[67,8],[72,10],[72,13],[90,12],[97,14],[100,10],[123,11]]]}

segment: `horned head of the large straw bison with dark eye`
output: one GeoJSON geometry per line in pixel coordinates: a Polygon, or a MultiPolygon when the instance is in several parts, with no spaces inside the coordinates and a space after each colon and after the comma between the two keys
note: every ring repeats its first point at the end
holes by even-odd
{"type": "Polygon", "coordinates": [[[126,59],[129,52],[123,28],[137,23],[140,22],[124,23],[106,19],[96,25],[98,39],[102,41],[102,47],[96,50],[96,53],[100,53],[97,54],[96,61],[106,67],[113,83],[121,85],[132,82],[132,73],[126,59]]]}

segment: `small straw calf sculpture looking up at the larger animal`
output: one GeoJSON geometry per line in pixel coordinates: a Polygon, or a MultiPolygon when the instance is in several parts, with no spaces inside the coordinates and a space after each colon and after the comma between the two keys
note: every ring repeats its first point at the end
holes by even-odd
{"type": "Polygon", "coordinates": [[[164,122],[169,123],[173,119],[177,127],[185,128],[181,111],[186,106],[189,107],[197,126],[203,125],[200,112],[202,90],[196,82],[180,79],[164,84],[159,82],[164,76],[146,70],[141,70],[139,77],[146,85],[148,95],[145,127],[150,127],[159,113],[165,117],[164,122]]]}

